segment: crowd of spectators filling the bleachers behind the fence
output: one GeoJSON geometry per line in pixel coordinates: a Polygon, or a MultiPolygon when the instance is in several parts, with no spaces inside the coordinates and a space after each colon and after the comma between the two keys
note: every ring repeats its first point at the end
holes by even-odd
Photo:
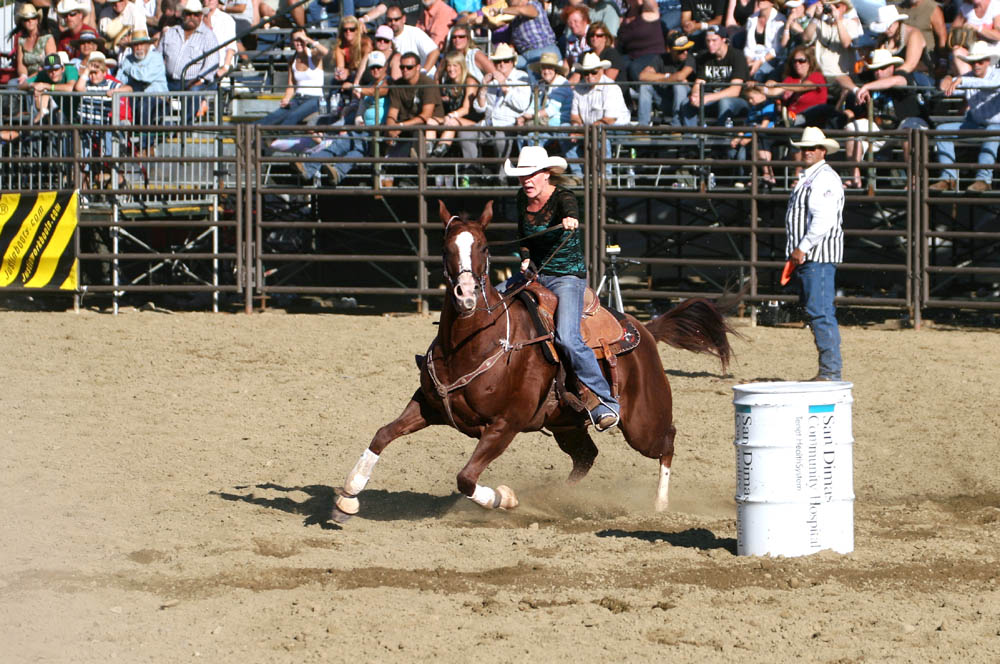
{"type": "MultiPolygon", "coordinates": [[[[511,127],[581,128],[536,134],[577,175],[582,128],[597,124],[849,129],[850,161],[887,156],[893,143],[871,137],[884,130],[1000,130],[1000,0],[857,1],[33,0],[16,9],[7,85],[30,96],[35,122],[65,112],[54,93],[76,91],[104,101],[60,119],[106,123],[116,93],[215,89],[266,21],[290,28],[292,54],[260,122],[310,124],[312,157],[371,156],[357,125],[384,126],[383,154],[409,153],[424,131],[430,156],[466,159],[516,154],[511,127]],[[940,122],[949,98],[964,114],[940,122]]],[[[194,98],[185,119],[205,109],[194,98]]],[[[152,104],[128,114],[158,119],[152,104]]],[[[750,143],[732,138],[730,156],[750,143]]],[[[940,163],[958,161],[956,143],[936,142],[940,163]]],[[[991,191],[997,146],[979,142],[971,184],[948,168],[931,190],[991,191]]],[[[757,148],[768,160],[775,141],[757,148]]],[[[297,170],[336,185],[350,164],[297,170]]],[[[845,177],[862,184],[858,169],[845,177]]]]}

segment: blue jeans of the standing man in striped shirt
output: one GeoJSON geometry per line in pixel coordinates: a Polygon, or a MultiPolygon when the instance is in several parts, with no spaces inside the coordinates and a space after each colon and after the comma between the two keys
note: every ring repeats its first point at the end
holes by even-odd
{"type": "Polygon", "coordinates": [[[840,328],[833,303],[837,294],[834,286],[837,265],[808,261],[800,265],[795,274],[799,276],[802,303],[819,351],[819,375],[840,380],[844,363],[840,358],[840,328]]]}

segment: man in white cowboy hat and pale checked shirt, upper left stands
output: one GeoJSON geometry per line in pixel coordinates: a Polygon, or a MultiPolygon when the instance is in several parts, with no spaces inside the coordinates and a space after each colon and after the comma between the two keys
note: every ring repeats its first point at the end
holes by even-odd
{"type": "Polygon", "coordinates": [[[203,90],[215,81],[215,70],[219,68],[219,53],[215,49],[219,43],[212,30],[202,23],[202,9],[200,0],[186,0],[181,24],[167,28],[160,37],[159,50],[167,67],[170,90],[203,90]],[[187,66],[210,51],[215,52],[187,66]]]}

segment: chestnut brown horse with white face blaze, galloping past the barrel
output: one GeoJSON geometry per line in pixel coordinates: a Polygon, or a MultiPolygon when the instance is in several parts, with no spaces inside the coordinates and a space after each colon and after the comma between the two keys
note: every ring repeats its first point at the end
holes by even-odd
{"type": "MultiPolygon", "coordinates": [[[[420,370],[420,388],[402,414],[375,434],[368,449],[338,490],[332,518],[356,514],[357,495],[393,440],[432,424],[450,424],[479,443],[458,473],[458,490],[485,508],[512,509],[517,497],[506,486],[480,486],[480,474],[522,431],[548,429],[570,456],[570,482],[582,479],[597,457],[587,432],[586,413],[556,396],[557,367],[543,356],[538,332],[526,307],[501,296],[489,280],[485,230],[493,217],[487,204],[478,221],[453,217],[440,204],[445,225],[444,272],[452,285],[441,311],[438,335],[420,370]]],[[[670,384],[656,342],[712,353],[723,370],[731,356],[732,332],[718,309],[705,299],[687,300],[643,326],[640,342],[617,358],[621,430],[636,451],[659,459],[656,509],[667,507],[674,425],[670,384]]],[[[605,369],[607,371],[607,369],[605,369]]]]}

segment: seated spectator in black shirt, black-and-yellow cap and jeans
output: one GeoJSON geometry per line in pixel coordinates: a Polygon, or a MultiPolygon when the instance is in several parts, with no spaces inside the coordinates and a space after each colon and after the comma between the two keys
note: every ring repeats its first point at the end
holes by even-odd
{"type": "Polygon", "coordinates": [[[696,66],[691,47],[694,42],[683,32],[667,36],[670,51],[639,72],[639,126],[657,124],[654,108],[666,118],[666,123],[680,126],[681,107],[691,93],[696,66]]]}

